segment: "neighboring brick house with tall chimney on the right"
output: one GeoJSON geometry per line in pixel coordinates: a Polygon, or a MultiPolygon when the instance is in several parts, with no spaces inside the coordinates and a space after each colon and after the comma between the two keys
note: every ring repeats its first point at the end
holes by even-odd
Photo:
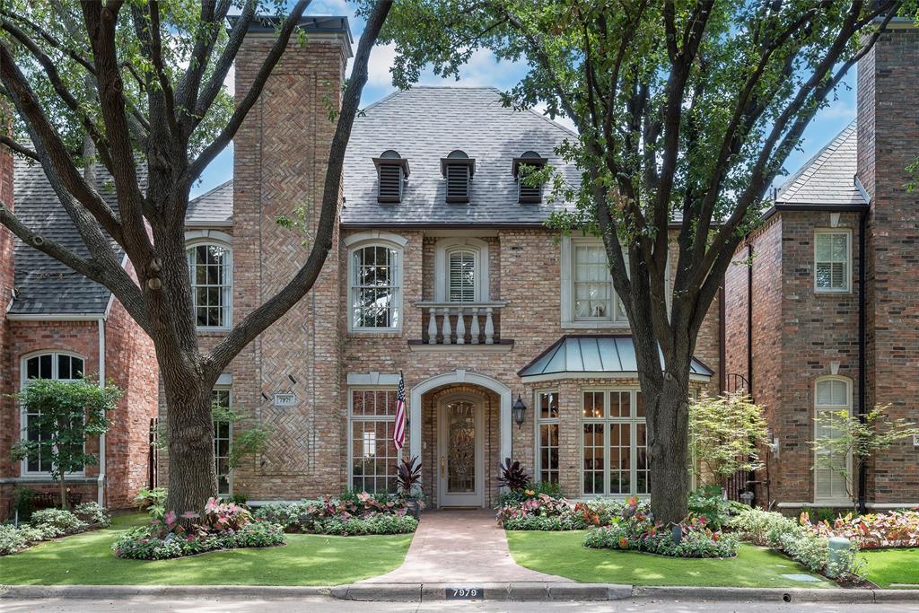
{"type": "MultiPolygon", "coordinates": [[[[919,195],[905,187],[919,155],[919,29],[894,22],[857,71],[857,120],[778,189],[725,278],[725,368],[766,405],[774,444],[758,498],[780,508],[850,505],[858,475],[815,468],[817,412],[877,403],[919,419],[919,195]]],[[[862,478],[869,508],[915,505],[919,440],[862,478]]]]}

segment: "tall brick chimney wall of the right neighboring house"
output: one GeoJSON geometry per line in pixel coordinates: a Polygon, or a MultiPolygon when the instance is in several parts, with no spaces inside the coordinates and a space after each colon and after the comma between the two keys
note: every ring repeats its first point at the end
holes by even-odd
{"type": "MultiPolygon", "coordinates": [[[[919,194],[904,185],[919,154],[919,29],[883,34],[858,63],[858,176],[868,217],[868,404],[919,419],[919,194]]],[[[919,500],[919,448],[903,441],[875,462],[878,503],[919,500]]]]}

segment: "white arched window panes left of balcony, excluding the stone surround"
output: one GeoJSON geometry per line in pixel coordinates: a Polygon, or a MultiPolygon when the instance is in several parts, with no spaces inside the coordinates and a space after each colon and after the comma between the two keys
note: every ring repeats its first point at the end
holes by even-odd
{"type": "Polygon", "coordinates": [[[395,329],[400,322],[399,251],[371,244],[351,252],[351,329],[395,329]]]}

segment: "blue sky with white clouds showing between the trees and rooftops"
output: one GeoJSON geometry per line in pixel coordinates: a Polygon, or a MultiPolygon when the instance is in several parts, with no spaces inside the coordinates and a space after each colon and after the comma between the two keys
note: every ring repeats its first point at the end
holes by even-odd
{"type": "MultiPolygon", "coordinates": [[[[314,0],[307,9],[310,15],[345,15],[354,34],[355,49],[357,40],[364,29],[363,20],[355,17],[354,6],[345,0],[314,0]]],[[[369,81],[364,87],[361,97],[361,106],[366,107],[376,102],[383,96],[395,91],[391,84],[389,68],[395,56],[390,46],[378,46],[374,49],[369,63],[369,81]]],[[[526,65],[523,62],[497,62],[490,51],[477,51],[471,62],[463,67],[459,82],[453,79],[441,79],[430,71],[422,75],[421,85],[488,85],[498,89],[508,89],[515,85],[526,74],[526,65]]],[[[233,73],[229,75],[232,80],[233,73]]],[[[789,156],[786,169],[793,172],[806,162],[814,153],[830,142],[833,137],[845,128],[856,117],[856,74],[853,68],[846,75],[844,85],[836,93],[836,98],[829,107],[823,108],[804,132],[804,140],[800,150],[789,156]]],[[[559,119],[560,122],[570,125],[570,122],[559,119]]],[[[199,184],[192,188],[191,195],[195,197],[204,193],[211,187],[217,187],[224,181],[233,177],[233,146],[231,145],[208,166],[201,176],[199,184]]],[[[777,183],[782,182],[779,178],[777,183]]]]}

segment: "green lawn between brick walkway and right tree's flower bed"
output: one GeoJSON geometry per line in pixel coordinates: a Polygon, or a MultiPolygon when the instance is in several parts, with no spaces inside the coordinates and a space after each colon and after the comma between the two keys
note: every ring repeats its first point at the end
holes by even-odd
{"type": "Polygon", "coordinates": [[[783,555],[751,545],[743,545],[731,560],[687,560],[637,551],[589,550],[584,547],[583,531],[508,531],[507,541],[521,566],[583,583],[834,587],[823,578],[806,583],[781,576],[811,573],[783,555]]]}

